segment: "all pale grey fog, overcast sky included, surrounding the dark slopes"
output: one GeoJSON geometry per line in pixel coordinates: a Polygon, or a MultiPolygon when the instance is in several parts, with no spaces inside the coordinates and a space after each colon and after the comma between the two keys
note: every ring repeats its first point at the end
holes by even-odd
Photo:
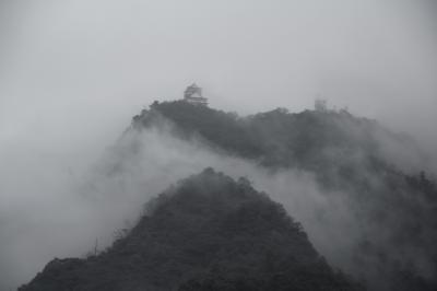
{"type": "Polygon", "coordinates": [[[324,200],[310,173],[272,176],[149,132],[142,159],[108,174],[122,155],[111,147],[144,106],[180,98],[196,81],[211,107],[243,115],[299,112],[323,97],[437,156],[436,12],[426,0],[1,1],[0,289],[56,256],[85,255],[96,240],[108,246],[150,197],[205,166],[248,176],[344,266],[315,212],[345,211],[328,222],[347,224],[339,231],[352,238],[339,244],[350,246],[347,200],[324,200]]]}

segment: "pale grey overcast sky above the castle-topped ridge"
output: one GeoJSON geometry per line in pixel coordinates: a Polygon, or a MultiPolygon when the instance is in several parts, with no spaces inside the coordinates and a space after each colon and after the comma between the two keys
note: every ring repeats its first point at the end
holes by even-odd
{"type": "MultiPolygon", "coordinates": [[[[212,107],[241,114],[299,112],[320,95],[410,132],[437,155],[436,7],[0,0],[0,236],[16,232],[11,247],[29,241],[16,238],[29,230],[15,218],[56,224],[47,213],[67,191],[70,171],[98,160],[143,106],[179,98],[193,81],[212,107]],[[33,207],[39,212],[26,214],[33,207]]],[[[52,229],[45,230],[35,234],[42,245],[52,229]]],[[[13,261],[14,253],[2,251],[0,261],[13,261]]]]}

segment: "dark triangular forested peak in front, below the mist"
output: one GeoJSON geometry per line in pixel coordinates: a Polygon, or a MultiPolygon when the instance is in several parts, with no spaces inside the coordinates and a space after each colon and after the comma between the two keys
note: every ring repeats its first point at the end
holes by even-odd
{"type": "Polygon", "coordinates": [[[144,211],[110,248],[54,259],[19,290],[362,290],[246,178],[206,168],[144,211]]]}

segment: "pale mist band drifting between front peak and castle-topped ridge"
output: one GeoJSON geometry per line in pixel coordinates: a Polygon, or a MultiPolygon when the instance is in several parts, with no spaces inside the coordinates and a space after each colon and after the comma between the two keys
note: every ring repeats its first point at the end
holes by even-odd
{"type": "MultiPolygon", "coordinates": [[[[181,140],[173,135],[174,126],[162,120],[146,130],[128,129],[97,158],[67,168],[47,163],[47,156],[21,153],[26,163],[13,163],[0,179],[8,201],[0,208],[2,288],[31,280],[55,257],[86,257],[94,248],[106,249],[117,233],[135,225],[146,201],[209,166],[233,178],[248,178],[303,224],[330,264],[364,276],[367,270],[354,269],[353,263],[361,238],[385,229],[371,217],[361,217],[347,193],[324,190],[311,172],[271,171],[231,156],[201,137],[181,140]]],[[[403,254],[401,261],[413,261],[424,273],[428,268],[417,252],[403,254]]]]}

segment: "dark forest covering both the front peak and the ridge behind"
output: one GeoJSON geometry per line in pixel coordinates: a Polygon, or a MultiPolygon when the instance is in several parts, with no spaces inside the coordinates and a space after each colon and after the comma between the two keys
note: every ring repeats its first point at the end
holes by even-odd
{"type": "Polygon", "coordinates": [[[436,290],[437,188],[433,173],[421,168],[426,155],[409,137],[346,110],[277,108],[240,117],[155,102],[133,117],[105,173],[111,177],[126,160],[140,161],[151,146],[141,133],[155,131],[173,138],[166,142],[250,161],[268,173],[263,178],[285,173],[285,195],[306,185],[290,173],[314,176],[317,185],[302,199],[318,190],[316,199],[341,201],[306,218],[318,230],[339,228],[322,237],[329,247],[316,249],[285,208],[249,179],[208,168],[150,200],[111,247],[85,259],[55,259],[21,290],[436,290]],[[388,151],[392,144],[398,151],[388,151]],[[342,220],[352,229],[341,229],[342,220]]]}

